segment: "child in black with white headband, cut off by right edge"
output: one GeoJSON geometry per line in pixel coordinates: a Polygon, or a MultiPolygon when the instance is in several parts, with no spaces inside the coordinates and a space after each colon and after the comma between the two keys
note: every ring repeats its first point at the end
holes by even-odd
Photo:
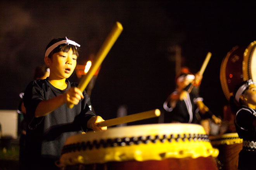
{"type": "Polygon", "coordinates": [[[235,128],[243,139],[239,153],[239,170],[256,169],[256,82],[247,80],[238,85],[230,97],[230,106],[236,111],[235,128]]]}

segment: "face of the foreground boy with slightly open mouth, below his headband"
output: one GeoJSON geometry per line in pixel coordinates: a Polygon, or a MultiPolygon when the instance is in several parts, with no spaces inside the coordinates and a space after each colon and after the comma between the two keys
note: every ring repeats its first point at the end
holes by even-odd
{"type": "Polygon", "coordinates": [[[73,54],[70,48],[67,53],[58,52],[49,59],[48,67],[50,68],[50,77],[55,80],[69,78],[76,68],[77,56],[73,54]]]}

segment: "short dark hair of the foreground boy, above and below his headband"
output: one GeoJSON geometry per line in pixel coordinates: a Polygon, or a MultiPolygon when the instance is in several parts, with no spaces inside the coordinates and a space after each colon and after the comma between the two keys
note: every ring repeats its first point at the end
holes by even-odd
{"type": "MultiPolygon", "coordinates": [[[[56,42],[63,41],[63,40],[66,40],[66,38],[55,38],[55,39],[52,39],[52,41],[50,41],[49,44],[46,46],[45,51],[46,51],[50,46],[52,46],[53,44],[55,44],[56,42]]],[[[48,55],[48,58],[51,58],[51,57],[52,57],[52,54],[58,53],[58,52],[60,52],[60,51],[66,53],[66,52],[69,51],[70,48],[72,49],[73,54],[75,54],[75,55],[78,57],[78,56],[79,56],[79,53],[78,53],[78,52],[79,52],[79,50],[80,50],[79,47],[76,47],[76,46],[71,45],[71,44],[69,44],[69,45],[67,45],[67,44],[60,44],[59,46],[57,46],[56,48],[54,48],[54,50],[52,50],[52,51],[50,52],[50,54],[48,55]]]]}

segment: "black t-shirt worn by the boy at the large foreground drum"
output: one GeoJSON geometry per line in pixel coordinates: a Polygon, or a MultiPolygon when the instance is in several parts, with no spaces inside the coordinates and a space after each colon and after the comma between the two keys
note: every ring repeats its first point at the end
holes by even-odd
{"type": "Polygon", "coordinates": [[[26,132],[26,146],[28,155],[49,158],[59,158],[61,149],[67,137],[87,131],[87,121],[95,116],[89,96],[83,91],[84,99],[69,109],[66,104],[61,105],[50,114],[35,117],[37,105],[43,101],[61,95],[77,83],[68,83],[65,90],[55,88],[48,78],[34,80],[29,83],[24,94],[24,106],[28,120],[26,132]]]}

